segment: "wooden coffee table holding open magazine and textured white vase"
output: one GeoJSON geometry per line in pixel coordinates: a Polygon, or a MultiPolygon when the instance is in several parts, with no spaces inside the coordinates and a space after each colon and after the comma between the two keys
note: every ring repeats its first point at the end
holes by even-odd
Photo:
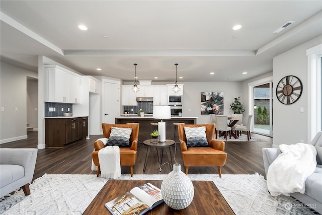
{"type": "MultiPolygon", "coordinates": [[[[104,207],[106,202],[147,182],[160,188],[162,180],[108,180],[83,214],[110,214],[104,207]]],[[[192,183],[195,195],[187,208],[175,210],[163,203],[146,214],[235,214],[212,181],[192,183]]]]}

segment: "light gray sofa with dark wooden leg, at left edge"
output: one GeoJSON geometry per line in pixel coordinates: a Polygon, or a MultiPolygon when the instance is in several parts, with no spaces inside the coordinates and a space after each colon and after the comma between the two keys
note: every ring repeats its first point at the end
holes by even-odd
{"type": "Polygon", "coordinates": [[[20,187],[30,194],[37,153],[37,149],[0,149],[0,198],[20,187]]]}

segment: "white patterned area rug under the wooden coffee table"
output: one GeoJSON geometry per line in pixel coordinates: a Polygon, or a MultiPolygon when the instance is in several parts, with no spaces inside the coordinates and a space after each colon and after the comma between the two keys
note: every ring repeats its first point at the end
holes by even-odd
{"type": "MultiPolygon", "coordinates": [[[[162,180],[166,175],[122,175],[119,179],[162,180]]],[[[273,197],[260,175],[188,175],[213,181],[236,214],[314,214],[292,197],[273,197]]],[[[107,179],[96,175],[44,175],[0,202],[1,214],[82,214],[107,179]]],[[[108,201],[108,199],[107,199],[108,201]]]]}

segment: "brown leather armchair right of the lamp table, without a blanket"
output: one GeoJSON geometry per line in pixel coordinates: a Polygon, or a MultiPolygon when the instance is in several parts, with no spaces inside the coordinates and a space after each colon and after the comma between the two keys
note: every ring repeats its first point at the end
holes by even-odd
{"type": "Polygon", "coordinates": [[[189,167],[210,167],[217,166],[219,177],[221,177],[221,169],[226,163],[227,154],[225,150],[225,142],[214,139],[215,124],[179,124],[178,133],[181,148],[181,158],[186,167],[186,175],[189,167]],[[187,147],[187,138],[184,127],[206,127],[206,137],[210,147],[187,147]]]}

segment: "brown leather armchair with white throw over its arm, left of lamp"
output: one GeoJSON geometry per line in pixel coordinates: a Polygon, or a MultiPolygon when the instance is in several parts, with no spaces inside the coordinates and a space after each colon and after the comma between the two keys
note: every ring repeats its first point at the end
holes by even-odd
{"type": "MultiPolygon", "coordinates": [[[[111,129],[113,127],[122,127],[122,128],[132,128],[132,133],[130,135],[130,147],[129,148],[120,148],[120,163],[121,166],[130,166],[131,176],[133,176],[133,166],[135,165],[136,156],[137,156],[137,139],[139,136],[139,124],[107,124],[102,123],[103,128],[103,137],[109,138],[111,129]]],[[[93,162],[97,168],[97,177],[100,173],[100,162],[99,162],[99,150],[103,149],[105,146],[101,140],[94,142],[94,152],[92,153],[93,162]]]]}

